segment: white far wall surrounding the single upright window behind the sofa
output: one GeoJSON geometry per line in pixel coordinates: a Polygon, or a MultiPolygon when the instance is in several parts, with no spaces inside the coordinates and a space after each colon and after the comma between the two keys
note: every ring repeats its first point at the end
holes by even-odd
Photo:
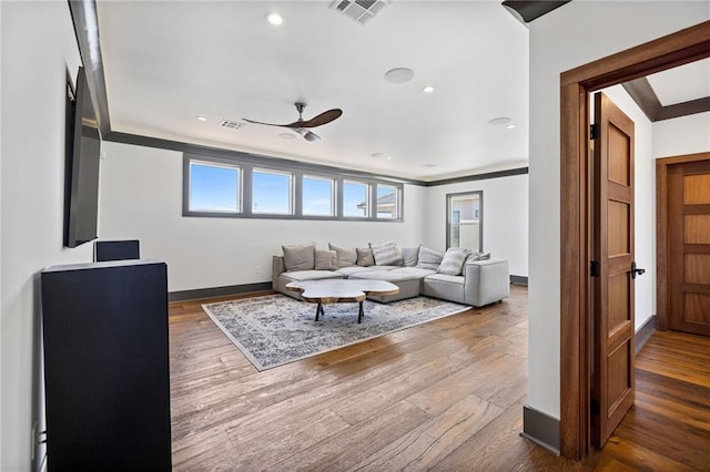
{"type": "Polygon", "coordinates": [[[508,259],[511,275],[528,275],[528,176],[473,181],[427,187],[427,225],[424,244],[446,248],[446,195],[484,193],[484,252],[508,259]]]}

